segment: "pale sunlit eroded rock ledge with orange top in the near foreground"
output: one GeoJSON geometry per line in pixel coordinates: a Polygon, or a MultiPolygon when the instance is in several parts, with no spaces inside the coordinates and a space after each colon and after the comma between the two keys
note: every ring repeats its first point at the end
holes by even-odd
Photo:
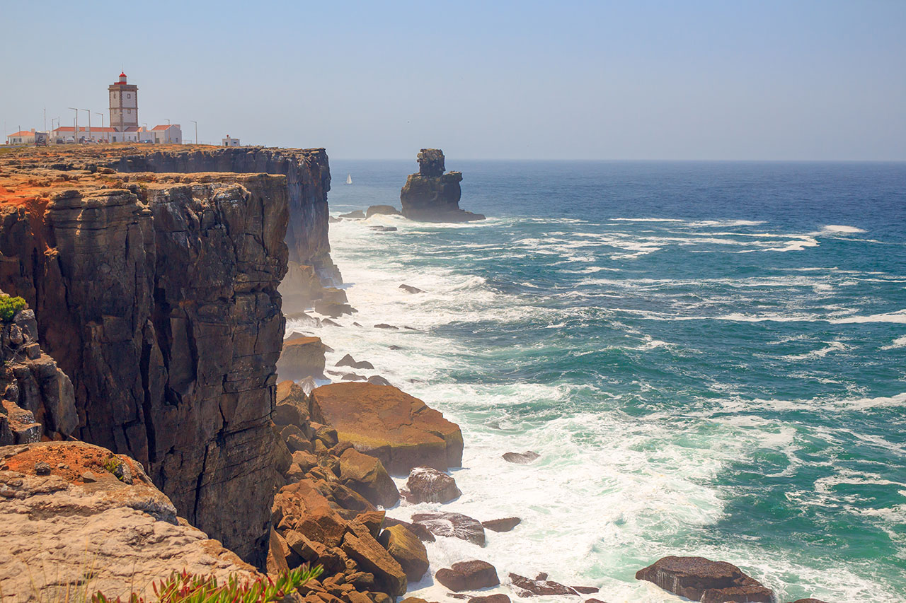
{"type": "Polygon", "coordinates": [[[256,575],[179,520],[127,456],[81,442],[43,442],[0,447],[0,463],[4,601],[63,600],[67,590],[125,600],[134,589],[149,597],[151,585],[173,570],[220,580],[256,575]],[[35,474],[40,463],[50,465],[49,474],[35,474]]]}

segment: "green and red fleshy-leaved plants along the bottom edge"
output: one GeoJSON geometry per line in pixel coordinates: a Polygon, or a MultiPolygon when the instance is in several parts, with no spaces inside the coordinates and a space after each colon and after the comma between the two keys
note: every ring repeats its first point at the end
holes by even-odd
{"type": "MultiPolygon", "coordinates": [[[[276,580],[270,578],[238,579],[235,575],[218,585],[213,576],[198,576],[188,571],[174,571],[166,580],[154,585],[156,598],[147,603],[269,603],[279,601],[305,582],[321,575],[319,565],[307,565],[282,572],[276,580]]],[[[109,599],[98,592],[92,603],[123,603],[122,599],[109,599]]],[[[132,593],[126,603],[146,603],[144,598],[132,593]]]]}

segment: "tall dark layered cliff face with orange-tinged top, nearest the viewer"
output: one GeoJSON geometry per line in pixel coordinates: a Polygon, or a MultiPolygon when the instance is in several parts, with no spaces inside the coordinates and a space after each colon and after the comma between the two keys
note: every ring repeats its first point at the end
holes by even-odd
{"type": "Polygon", "coordinates": [[[0,289],[72,378],[72,435],[139,460],[180,515],[262,564],[286,177],[15,169],[0,289]]]}

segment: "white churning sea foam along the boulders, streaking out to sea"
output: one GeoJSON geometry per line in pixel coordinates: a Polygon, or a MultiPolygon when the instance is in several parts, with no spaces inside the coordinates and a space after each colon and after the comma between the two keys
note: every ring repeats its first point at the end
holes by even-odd
{"type": "MultiPolygon", "coordinates": [[[[757,539],[703,545],[694,534],[725,518],[726,492],[716,483],[732,464],[750,459],[753,451],[759,449],[776,450],[786,455],[790,466],[799,463],[796,453],[801,443],[795,426],[780,419],[756,416],[755,410],[825,408],[862,412],[906,406],[906,394],[893,397],[853,395],[830,400],[742,400],[732,397],[734,387],[728,385],[726,403],[712,402],[716,404],[716,411],[702,411],[700,416],[694,416],[696,426],[707,426],[705,432],[689,429],[693,413],[681,418],[668,412],[642,417],[623,413],[616,409],[620,394],[603,389],[585,387],[580,391],[575,386],[534,383],[531,379],[505,384],[481,380],[458,382],[449,377],[451,372],[475,370],[489,361],[500,360],[499,354],[517,354],[530,349],[532,344],[515,344],[506,352],[480,347],[467,349],[459,340],[440,336],[440,328],[471,321],[512,323],[528,319],[538,321],[539,317],[544,317],[551,328],[557,329],[567,318],[581,316],[587,309],[547,308],[527,297],[495,290],[484,279],[439,267],[447,264],[412,262],[425,256],[426,250],[420,248],[421,244],[411,244],[402,237],[400,240],[383,237],[369,231],[364,224],[343,222],[331,225],[331,228],[333,258],[347,282],[352,283],[347,291],[352,306],[359,313],[339,319],[344,328],[318,330],[324,342],[336,350],[328,355],[328,365],[345,353],[352,353],[357,360],[369,360],[375,366],[373,371],[355,372],[383,375],[394,385],[439,408],[463,427],[466,438],[464,466],[453,472],[463,495],[457,501],[443,505],[443,510],[465,512],[479,520],[512,515],[523,520],[514,531],[487,532],[485,548],[456,539],[429,543],[432,571],[448,567],[451,562],[477,558],[493,563],[505,582],[510,571],[527,576],[547,571],[552,579],[564,583],[602,587],[601,598],[604,600],[664,603],[680,599],[650,583],[633,579],[634,571],[663,555],[690,554],[737,563],[776,589],[781,600],[809,594],[843,603],[899,600],[895,589],[872,579],[872,574],[864,568],[843,565],[839,560],[814,560],[807,555],[791,558],[788,552],[766,548],[757,539]],[[402,282],[426,292],[415,295],[402,292],[399,289],[402,282]],[[353,321],[363,327],[353,327],[353,321]],[[373,329],[372,325],[379,322],[400,327],[409,325],[418,330],[373,329]],[[390,345],[403,349],[390,349],[390,345]],[[575,410],[573,398],[581,396],[593,396],[598,401],[594,412],[575,410]],[[526,411],[526,408],[532,410],[526,411]],[[541,458],[530,465],[507,464],[500,458],[504,452],[526,449],[535,450],[541,458]],[[682,544],[687,541],[695,544],[682,544]],[[808,565],[804,565],[803,560],[808,565]],[[787,597],[792,594],[796,596],[787,597]]],[[[400,222],[400,231],[433,232],[429,227],[404,225],[403,222],[400,222]]],[[[657,241],[653,236],[641,240],[628,234],[608,236],[610,242],[599,235],[583,238],[592,239],[593,244],[610,245],[605,256],[613,254],[613,248],[618,250],[617,253],[638,253],[652,247],[681,244],[679,241],[657,241]],[[640,248],[631,249],[629,245],[640,248]]],[[[786,242],[790,238],[793,237],[760,237],[751,247],[754,250],[776,247],[778,241],[786,242]]],[[[576,249],[594,249],[575,245],[565,235],[554,235],[554,239],[545,242],[541,238],[528,240],[526,237],[520,247],[527,254],[535,253],[536,248],[545,249],[561,254],[565,259],[578,256],[576,249]]],[[[498,253],[498,250],[503,253],[500,245],[464,248],[487,254],[498,253]]],[[[448,249],[435,251],[439,252],[440,258],[450,253],[448,249]]],[[[575,272],[584,273],[585,270],[575,272]]],[[[672,287],[697,285],[700,290],[702,286],[719,285],[739,291],[733,293],[735,296],[750,296],[767,294],[760,289],[747,292],[750,288],[777,287],[789,291],[796,287],[836,284],[827,280],[831,269],[806,271],[811,274],[801,276],[790,274],[786,279],[752,277],[711,281],[613,279],[606,282],[592,276],[597,272],[602,271],[587,271],[590,281],[617,289],[621,295],[635,291],[651,296],[661,289],[669,292],[672,287]]],[[[564,292],[564,295],[568,294],[575,292],[564,292]]],[[[699,294],[699,300],[706,297],[699,294]]],[[[733,299],[729,298],[730,301],[733,299]]],[[[703,317],[677,316],[670,311],[610,308],[604,315],[612,317],[608,320],[619,328],[622,312],[658,321],[784,322],[827,321],[825,312],[841,311],[840,308],[825,308],[818,313],[792,305],[786,308],[750,313],[718,310],[705,312],[710,316],[703,317]]],[[[843,311],[852,313],[847,309],[843,311]]],[[[601,315],[600,311],[594,314],[598,320],[601,315]]],[[[623,320],[629,322],[625,317],[623,320]]],[[[674,346],[663,340],[667,339],[663,336],[641,333],[645,324],[635,321],[635,326],[626,330],[630,336],[622,345],[623,349],[674,346]]],[[[815,344],[821,341],[819,337],[814,336],[815,344]]],[[[825,335],[824,339],[829,338],[825,335]]],[[[836,342],[824,342],[823,347],[814,351],[831,348],[833,343],[836,342]]],[[[845,350],[828,349],[824,353],[832,351],[845,350]]],[[[656,385],[643,382],[637,386],[643,394],[656,388],[656,385]]],[[[718,390],[718,385],[713,389],[718,390]]],[[[834,433],[829,429],[812,426],[809,433],[823,441],[834,442],[834,433]]],[[[802,495],[817,497],[814,492],[802,495]]],[[[391,509],[389,515],[407,519],[412,512],[439,508],[441,506],[437,504],[400,505],[391,509]]],[[[876,515],[874,520],[884,524],[896,518],[895,514],[881,511],[876,515]]],[[[430,577],[411,585],[410,589],[410,595],[429,600],[443,600],[447,592],[430,577]]],[[[511,598],[522,600],[506,584],[492,591],[505,592],[511,598]]],[[[552,603],[567,600],[551,599],[552,603]]]]}

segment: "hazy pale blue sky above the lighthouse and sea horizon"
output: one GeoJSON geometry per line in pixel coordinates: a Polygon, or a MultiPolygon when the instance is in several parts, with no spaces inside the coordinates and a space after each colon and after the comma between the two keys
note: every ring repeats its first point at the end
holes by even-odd
{"type": "Polygon", "coordinates": [[[0,0],[0,56],[5,134],[123,68],[149,126],[334,158],[906,159],[906,0],[0,0]]]}

